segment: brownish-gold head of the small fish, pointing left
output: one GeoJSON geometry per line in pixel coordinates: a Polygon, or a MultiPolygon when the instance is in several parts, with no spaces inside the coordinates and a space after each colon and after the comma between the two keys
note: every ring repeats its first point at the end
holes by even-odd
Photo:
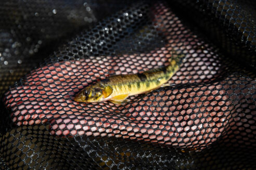
{"type": "Polygon", "coordinates": [[[74,97],[75,102],[94,103],[103,100],[103,88],[97,86],[86,87],[74,97]]]}

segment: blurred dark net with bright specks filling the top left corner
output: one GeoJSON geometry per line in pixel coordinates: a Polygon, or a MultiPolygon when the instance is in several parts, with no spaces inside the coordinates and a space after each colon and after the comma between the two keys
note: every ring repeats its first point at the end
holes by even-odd
{"type": "Polygon", "coordinates": [[[0,94],[72,36],[126,4],[100,0],[0,2],[0,94]]]}

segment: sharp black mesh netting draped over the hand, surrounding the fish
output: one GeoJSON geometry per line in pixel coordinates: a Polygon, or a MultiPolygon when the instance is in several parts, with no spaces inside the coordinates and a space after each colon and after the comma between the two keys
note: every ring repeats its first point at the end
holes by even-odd
{"type": "Polygon", "coordinates": [[[206,40],[165,3],[135,4],[80,34],[5,93],[3,164],[253,168],[255,75],[206,40]],[[175,86],[124,106],[72,101],[98,79],[168,65],[173,50],[186,55],[175,86]]]}

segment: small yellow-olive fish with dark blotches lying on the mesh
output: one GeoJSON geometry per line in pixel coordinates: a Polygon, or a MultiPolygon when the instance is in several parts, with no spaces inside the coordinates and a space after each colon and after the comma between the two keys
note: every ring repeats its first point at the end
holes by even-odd
{"type": "Polygon", "coordinates": [[[136,94],[151,92],[160,87],[170,86],[168,80],[180,68],[182,57],[171,59],[166,67],[151,69],[140,74],[114,75],[87,86],[74,98],[76,102],[103,102],[114,104],[127,102],[126,98],[136,94]]]}

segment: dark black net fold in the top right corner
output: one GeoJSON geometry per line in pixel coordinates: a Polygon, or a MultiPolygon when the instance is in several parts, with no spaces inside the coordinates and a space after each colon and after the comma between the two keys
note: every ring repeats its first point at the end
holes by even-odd
{"type": "Polygon", "coordinates": [[[171,1],[171,5],[223,53],[255,68],[255,1],[171,1]]]}

